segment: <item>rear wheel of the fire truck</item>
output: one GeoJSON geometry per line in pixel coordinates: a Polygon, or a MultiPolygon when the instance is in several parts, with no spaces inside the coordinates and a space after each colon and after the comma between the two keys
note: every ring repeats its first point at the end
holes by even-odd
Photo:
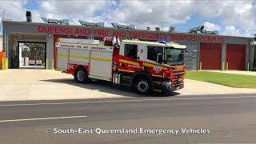
{"type": "Polygon", "coordinates": [[[78,67],[74,72],[74,80],[78,83],[85,83],[89,81],[86,69],[83,67],[78,67]]]}

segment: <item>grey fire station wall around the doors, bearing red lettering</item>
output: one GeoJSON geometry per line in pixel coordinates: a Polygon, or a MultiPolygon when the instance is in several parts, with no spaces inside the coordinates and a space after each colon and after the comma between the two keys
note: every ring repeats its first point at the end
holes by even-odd
{"type": "MultiPolygon", "coordinates": [[[[211,34],[186,34],[175,32],[162,32],[162,31],[148,31],[148,30],[124,30],[108,27],[90,27],[90,26],[66,26],[46,23],[33,23],[33,22],[3,22],[4,26],[4,38],[6,39],[6,45],[9,39],[8,35],[13,32],[24,32],[33,34],[46,34],[46,60],[48,69],[54,67],[54,35],[62,35],[63,37],[78,36],[80,38],[97,38],[102,39],[106,36],[118,36],[121,39],[135,38],[147,41],[167,40],[178,42],[179,44],[186,45],[189,54],[185,55],[185,63],[187,70],[199,69],[199,54],[201,42],[220,43],[222,44],[222,63],[226,63],[226,44],[242,44],[246,45],[246,66],[250,64],[253,66],[254,53],[250,46],[250,38],[243,37],[230,37],[222,35],[211,34]]],[[[10,46],[11,47],[11,46],[10,46]]],[[[10,49],[10,48],[8,48],[10,49]]],[[[6,49],[6,50],[8,50],[6,49]]],[[[6,53],[6,57],[8,56],[6,53]]]]}

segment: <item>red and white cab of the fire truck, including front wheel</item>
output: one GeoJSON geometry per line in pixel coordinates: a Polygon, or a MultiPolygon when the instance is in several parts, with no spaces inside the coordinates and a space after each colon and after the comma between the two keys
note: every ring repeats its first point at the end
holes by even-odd
{"type": "Polygon", "coordinates": [[[118,57],[115,58],[121,84],[148,94],[150,91],[163,92],[178,90],[184,86],[186,46],[170,42],[142,42],[123,40],[118,57]]]}

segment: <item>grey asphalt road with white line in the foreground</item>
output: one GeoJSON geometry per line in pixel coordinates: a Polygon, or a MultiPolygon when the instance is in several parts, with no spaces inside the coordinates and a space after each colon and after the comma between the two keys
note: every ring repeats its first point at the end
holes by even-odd
{"type": "Polygon", "coordinates": [[[255,135],[255,95],[0,102],[1,143],[256,143],[255,135]],[[134,134],[106,134],[122,128],[134,134]]]}

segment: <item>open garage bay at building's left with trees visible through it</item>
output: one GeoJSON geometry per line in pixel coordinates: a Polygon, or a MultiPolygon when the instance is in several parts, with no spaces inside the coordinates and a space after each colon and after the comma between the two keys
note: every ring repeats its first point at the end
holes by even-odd
{"type": "Polygon", "coordinates": [[[10,33],[8,68],[46,69],[46,34],[10,33]]]}

